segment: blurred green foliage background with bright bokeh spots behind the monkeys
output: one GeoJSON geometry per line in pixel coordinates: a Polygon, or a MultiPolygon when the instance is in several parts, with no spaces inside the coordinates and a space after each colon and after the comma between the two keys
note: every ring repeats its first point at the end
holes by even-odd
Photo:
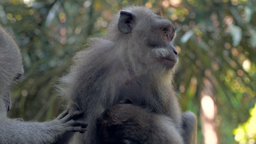
{"type": "Polygon", "coordinates": [[[255,144],[256,0],[1,0],[0,23],[16,37],[26,69],[8,116],[58,116],[58,78],[128,4],[162,8],[179,24],[175,87],[182,110],[198,116],[198,144],[255,144]]]}

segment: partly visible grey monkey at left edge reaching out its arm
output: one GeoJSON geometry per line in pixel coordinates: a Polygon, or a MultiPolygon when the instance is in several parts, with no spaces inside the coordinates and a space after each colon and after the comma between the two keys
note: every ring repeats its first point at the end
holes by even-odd
{"type": "Polygon", "coordinates": [[[58,142],[66,132],[84,133],[87,124],[75,121],[81,111],[63,112],[48,122],[9,119],[10,86],[24,74],[22,56],[14,38],[0,26],[0,144],[46,144],[58,142]]]}

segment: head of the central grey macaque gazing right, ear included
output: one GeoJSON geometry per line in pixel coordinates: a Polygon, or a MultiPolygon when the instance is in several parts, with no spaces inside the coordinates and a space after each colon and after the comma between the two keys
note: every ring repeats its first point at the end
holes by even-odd
{"type": "Polygon", "coordinates": [[[128,47],[133,48],[133,58],[160,70],[170,70],[178,62],[178,52],[173,46],[176,28],[170,20],[154,12],[121,11],[118,21],[118,30],[128,38],[128,47]]]}

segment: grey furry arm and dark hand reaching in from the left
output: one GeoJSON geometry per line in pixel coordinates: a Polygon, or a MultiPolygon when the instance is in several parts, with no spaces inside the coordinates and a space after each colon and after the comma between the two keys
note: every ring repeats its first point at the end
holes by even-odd
{"type": "Polygon", "coordinates": [[[80,111],[64,112],[62,118],[48,122],[23,122],[0,117],[0,144],[46,144],[57,142],[66,132],[84,133],[87,124],[76,119],[80,111]]]}

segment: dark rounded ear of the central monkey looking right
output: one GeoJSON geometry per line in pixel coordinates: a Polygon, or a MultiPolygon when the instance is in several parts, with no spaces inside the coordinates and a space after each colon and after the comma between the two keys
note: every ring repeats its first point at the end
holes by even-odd
{"type": "Polygon", "coordinates": [[[123,34],[128,34],[129,32],[132,32],[132,28],[131,28],[132,19],[133,19],[132,13],[121,11],[120,18],[118,21],[118,30],[123,34]]]}

